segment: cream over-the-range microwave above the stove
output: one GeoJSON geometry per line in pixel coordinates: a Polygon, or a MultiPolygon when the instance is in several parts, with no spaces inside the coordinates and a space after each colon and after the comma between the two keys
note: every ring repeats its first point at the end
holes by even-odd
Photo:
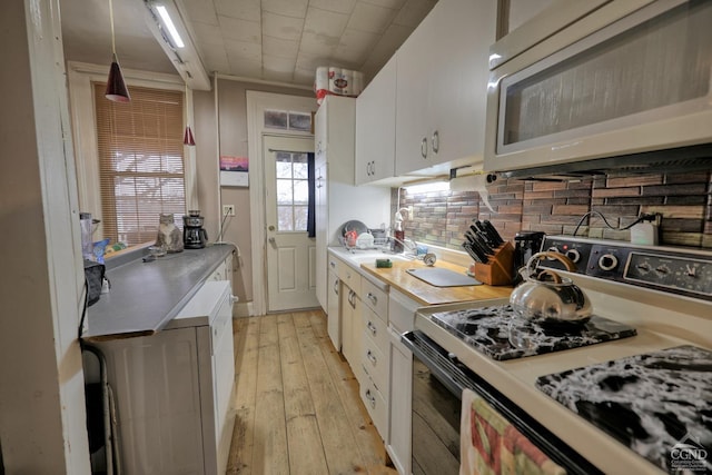
{"type": "Polygon", "coordinates": [[[490,69],[486,171],[615,168],[665,150],[712,168],[712,1],[557,1],[494,43],[490,69]]]}

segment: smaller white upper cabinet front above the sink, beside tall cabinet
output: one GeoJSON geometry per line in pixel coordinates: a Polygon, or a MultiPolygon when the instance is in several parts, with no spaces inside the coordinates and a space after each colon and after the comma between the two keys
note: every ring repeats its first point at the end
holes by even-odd
{"type": "Polygon", "coordinates": [[[396,57],[356,99],[356,185],[395,176],[396,57]]]}

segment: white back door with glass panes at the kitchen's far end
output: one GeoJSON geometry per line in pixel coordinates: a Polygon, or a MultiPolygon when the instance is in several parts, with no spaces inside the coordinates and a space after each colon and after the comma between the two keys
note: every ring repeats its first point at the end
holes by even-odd
{"type": "Polygon", "coordinates": [[[263,138],[267,311],[317,307],[316,241],[307,236],[312,137],[263,138]]]}

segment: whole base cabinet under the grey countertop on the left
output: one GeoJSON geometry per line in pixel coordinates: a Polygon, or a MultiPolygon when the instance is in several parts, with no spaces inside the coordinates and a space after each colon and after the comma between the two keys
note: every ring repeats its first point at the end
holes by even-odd
{"type": "Polygon", "coordinates": [[[97,344],[129,474],[225,473],[235,356],[227,281],[208,281],[166,329],[97,344]]]}

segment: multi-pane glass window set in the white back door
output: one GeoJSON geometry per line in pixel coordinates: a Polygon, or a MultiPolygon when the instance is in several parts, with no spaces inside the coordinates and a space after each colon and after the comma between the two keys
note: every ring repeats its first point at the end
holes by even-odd
{"type": "Polygon", "coordinates": [[[308,156],[277,152],[277,229],[306,231],[309,206],[308,156]]]}

